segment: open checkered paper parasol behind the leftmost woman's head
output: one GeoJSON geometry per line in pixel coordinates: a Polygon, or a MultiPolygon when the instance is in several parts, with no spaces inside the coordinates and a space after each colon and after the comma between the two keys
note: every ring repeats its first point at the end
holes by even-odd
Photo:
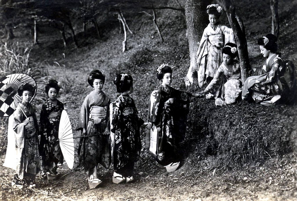
{"type": "MultiPolygon", "coordinates": [[[[18,102],[22,101],[22,97],[18,95],[18,88],[25,82],[37,86],[33,77],[25,73],[13,73],[0,79],[0,117],[10,116],[15,111],[18,102]]],[[[36,91],[37,87],[30,102],[34,99],[36,91]]]]}

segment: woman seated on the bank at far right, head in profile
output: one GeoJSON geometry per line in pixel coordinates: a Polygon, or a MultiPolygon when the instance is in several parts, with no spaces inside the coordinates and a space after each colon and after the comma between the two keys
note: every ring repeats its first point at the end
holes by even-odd
{"type": "MultiPolygon", "coordinates": [[[[251,97],[261,105],[275,105],[288,86],[284,78],[285,66],[281,54],[277,53],[277,37],[267,34],[257,40],[266,61],[262,68],[255,69],[255,76],[248,77],[242,89],[242,99],[251,97]]],[[[283,97],[284,98],[284,97],[283,97]]]]}

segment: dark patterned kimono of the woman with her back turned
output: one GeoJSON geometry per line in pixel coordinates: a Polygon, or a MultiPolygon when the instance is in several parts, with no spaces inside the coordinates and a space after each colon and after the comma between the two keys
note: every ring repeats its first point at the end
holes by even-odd
{"type": "Polygon", "coordinates": [[[116,173],[132,176],[134,163],[140,156],[139,129],[143,123],[138,117],[134,100],[129,95],[120,94],[110,104],[110,137],[116,173]]]}

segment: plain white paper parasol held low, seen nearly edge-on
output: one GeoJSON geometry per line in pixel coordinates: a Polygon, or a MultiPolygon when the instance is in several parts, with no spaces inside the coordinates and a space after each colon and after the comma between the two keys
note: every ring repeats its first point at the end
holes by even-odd
{"type": "Polygon", "coordinates": [[[72,127],[66,110],[63,110],[61,114],[59,144],[68,167],[72,169],[74,164],[74,142],[72,127]]]}

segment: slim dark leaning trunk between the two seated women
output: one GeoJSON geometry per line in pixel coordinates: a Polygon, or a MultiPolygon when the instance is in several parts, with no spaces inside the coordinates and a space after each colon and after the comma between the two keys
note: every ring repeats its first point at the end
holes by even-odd
{"type": "Polygon", "coordinates": [[[235,35],[241,69],[241,80],[242,83],[244,83],[248,77],[248,71],[250,69],[249,53],[247,50],[247,39],[245,37],[244,24],[239,15],[236,14],[234,5],[231,3],[230,0],[222,0],[222,3],[227,13],[230,26],[235,35]]]}

